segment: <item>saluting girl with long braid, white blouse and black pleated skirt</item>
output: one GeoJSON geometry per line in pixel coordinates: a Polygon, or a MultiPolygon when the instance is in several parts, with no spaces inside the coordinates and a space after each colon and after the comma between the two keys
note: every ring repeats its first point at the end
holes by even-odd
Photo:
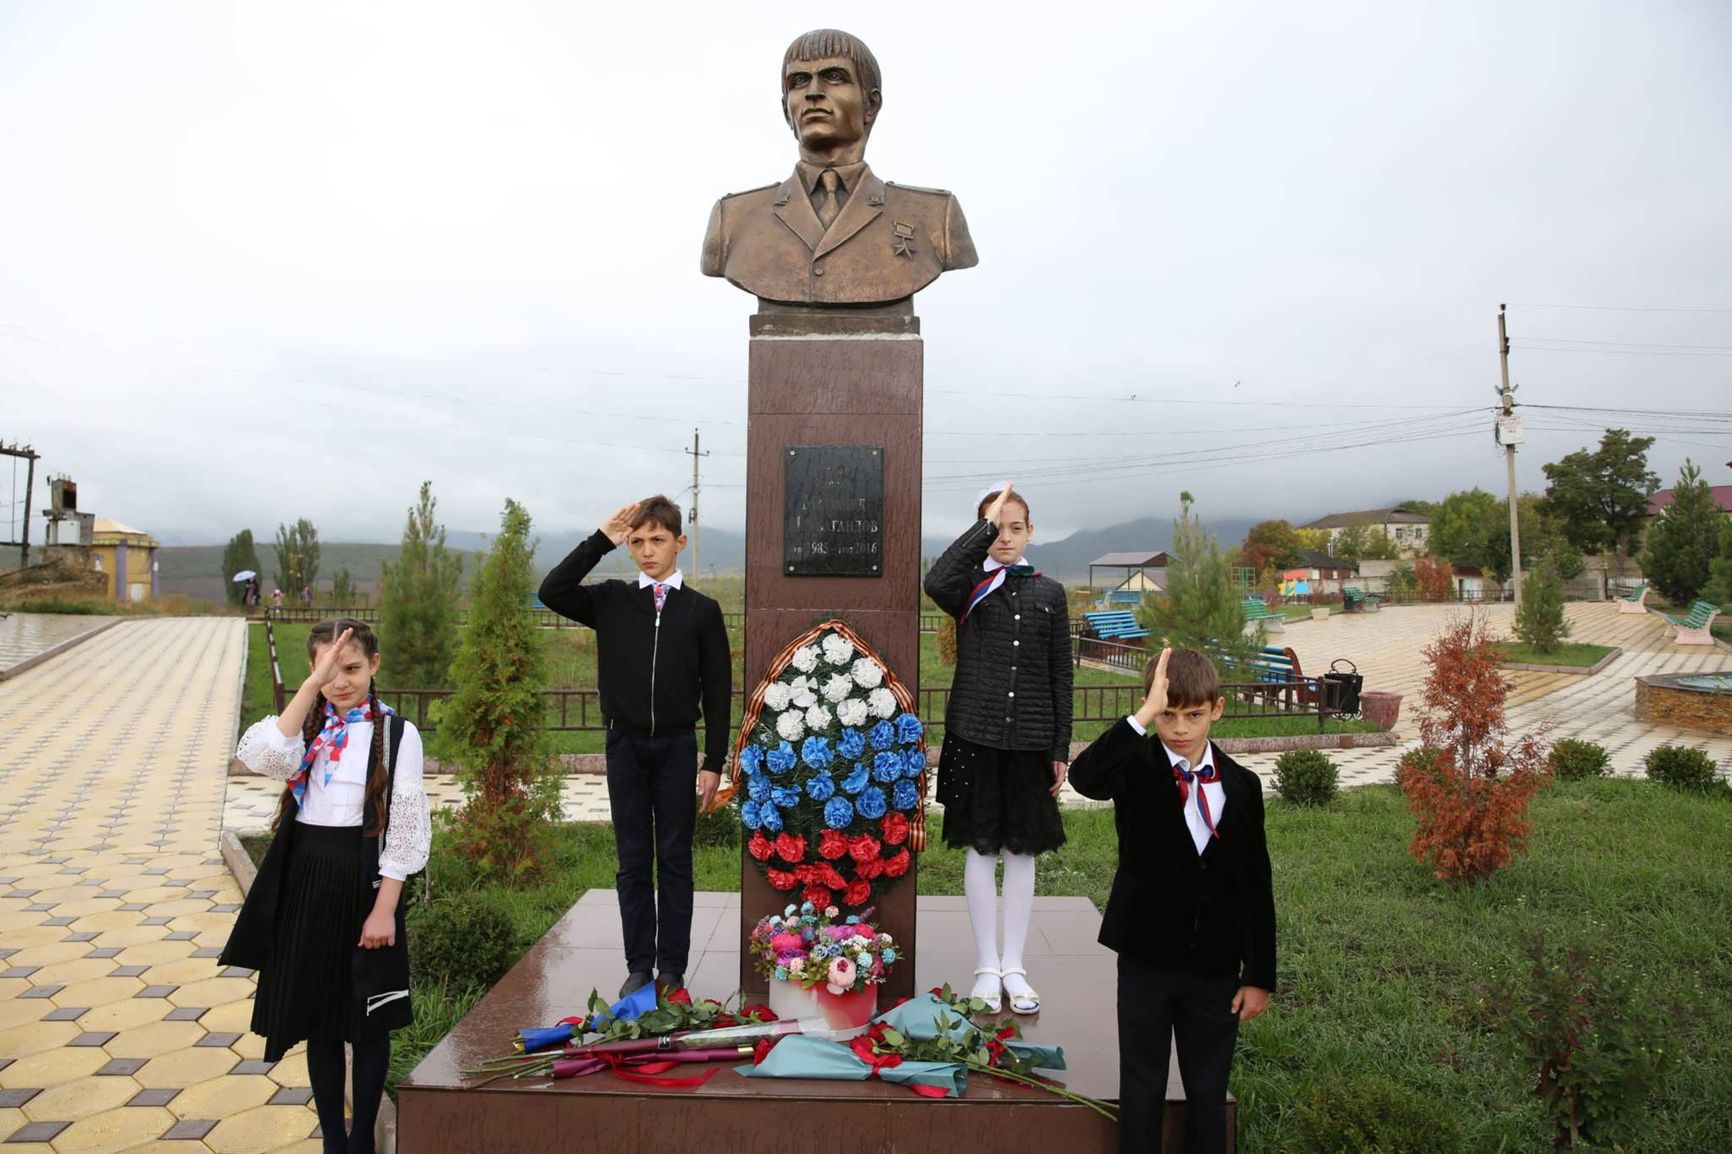
{"type": "Polygon", "coordinates": [[[372,1154],[390,1031],[412,1021],[398,898],[433,840],[421,735],[378,698],[379,643],[364,622],[319,622],[307,658],[312,672],[294,700],[248,729],[236,752],[286,787],[220,962],[258,970],[253,1033],[265,1038],[267,1062],[307,1041],[326,1154],[372,1154]],[[355,1055],[346,1137],[345,1041],[355,1055]]]}

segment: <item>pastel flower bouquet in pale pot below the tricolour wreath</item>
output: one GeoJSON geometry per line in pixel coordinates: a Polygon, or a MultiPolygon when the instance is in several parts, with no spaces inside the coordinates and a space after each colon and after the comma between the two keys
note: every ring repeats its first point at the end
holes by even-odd
{"type": "Polygon", "coordinates": [[[871,922],[809,901],[760,918],[746,951],[769,982],[771,1010],[823,1019],[843,1038],[878,1014],[878,986],[899,956],[895,941],[871,922]]]}

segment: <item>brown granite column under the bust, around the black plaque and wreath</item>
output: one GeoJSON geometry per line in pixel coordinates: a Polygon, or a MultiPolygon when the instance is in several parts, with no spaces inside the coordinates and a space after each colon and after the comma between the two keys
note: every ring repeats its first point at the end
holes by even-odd
{"type": "MultiPolygon", "coordinates": [[[[759,314],[752,317],[746,381],[746,691],[793,638],[843,619],[890,671],[920,693],[920,421],[923,347],[913,315],[759,314]],[[786,574],[786,456],[795,445],[883,449],[883,561],[878,577],[786,574]]],[[[878,903],[880,929],[908,951],[914,941],[920,859],[878,903]]],[[[741,941],[790,896],[741,851],[741,941]]],[[[795,901],[798,898],[795,896],[795,901]]],[[[759,1000],[766,982],[741,953],[740,986],[759,1000]]],[[[914,993],[914,967],[897,965],[882,1005],[914,993]]]]}

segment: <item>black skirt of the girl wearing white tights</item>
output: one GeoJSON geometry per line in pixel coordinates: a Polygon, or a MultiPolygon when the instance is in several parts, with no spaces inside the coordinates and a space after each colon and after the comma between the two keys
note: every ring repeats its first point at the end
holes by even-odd
{"type": "Polygon", "coordinates": [[[939,754],[944,844],[982,854],[1039,854],[1065,844],[1044,750],[992,749],[949,733],[939,754]]]}

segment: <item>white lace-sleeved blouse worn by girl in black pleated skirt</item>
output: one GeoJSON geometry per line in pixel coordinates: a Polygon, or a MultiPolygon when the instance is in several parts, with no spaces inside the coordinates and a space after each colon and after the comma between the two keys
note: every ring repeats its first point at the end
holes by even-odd
{"type": "MultiPolygon", "coordinates": [[[[331,781],[324,780],[326,750],[319,752],[307,775],[307,794],[296,821],[308,825],[360,825],[367,801],[367,750],[372,749],[372,723],[352,721],[346,757],[336,762],[331,781]]],[[[286,736],[272,714],[241,735],[234,754],[253,773],[288,781],[301,768],[307,743],[300,735],[286,736]]],[[[397,781],[391,788],[391,816],[379,846],[379,873],[402,882],[428,863],[433,847],[433,823],[428,795],[421,787],[424,754],[421,733],[412,721],[404,723],[404,742],[397,747],[397,781]]]]}

